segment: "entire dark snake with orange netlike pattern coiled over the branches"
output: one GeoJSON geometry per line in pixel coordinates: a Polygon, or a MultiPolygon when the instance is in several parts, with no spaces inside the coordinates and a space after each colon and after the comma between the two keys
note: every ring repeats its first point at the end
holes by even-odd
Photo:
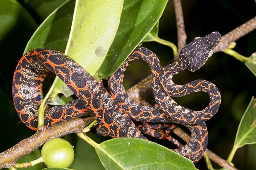
{"type": "MultiPolygon", "coordinates": [[[[175,84],[171,81],[173,75],[171,72],[172,68],[177,70],[177,72],[179,72],[179,67],[186,69],[189,67],[187,65],[191,65],[193,61],[196,61],[194,63],[198,65],[199,59],[192,59],[192,61],[184,59],[185,57],[190,58],[186,49],[194,48],[199,50],[199,48],[203,48],[201,50],[202,56],[204,59],[207,59],[205,56],[208,56],[208,51],[211,51],[218,44],[219,39],[220,35],[214,32],[193,40],[181,51],[180,62],[178,61],[175,65],[167,66],[162,72],[160,62],[153,52],[142,47],[136,48],[119,70],[109,78],[109,88],[111,89],[112,96],[105,90],[103,85],[63,53],[44,49],[29,51],[20,59],[14,73],[12,90],[15,108],[22,122],[27,127],[36,130],[38,108],[43,98],[42,84],[45,77],[53,72],[61,78],[78,99],[65,105],[53,106],[47,109],[44,115],[45,126],[53,126],[68,119],[90,114],[96,118],[105,135],[146,139],[131,119],[141,122],[179,123],[189,128],[192,139],[185,146],[175,151],[195,163],[201,158],[207,146],[208,133],[204,122],[218,110],[220,95],[218,89],[213,84],[204,81],[204,84],[213,88],[214,93],[212,90],[207,91],[210,97],[212,97],[212,94],[216,97],[211,99],[212,102],[208,106],[209,113],[207,115],[205,111],[191,113],[191,110],[177,105],[170,96],[204,91],[204,88],[197,81],[196,83],[189,84],[188,89],[183,89],[187,91],[186,93],[179,89],[173,89],[172,86],[175,84]],[[201,46],[202,43],[205,43],[205,45],[201,46]],[[152,109],[151,107],[146,108],[137,105],[126,96],[125,90],[122,88],[120,77],[122,77],[125,67],[129,62],[137,58],[144,59],[151,65],[152,87],[159,106],[158,108],[152,109]],[[168,79],[167,82],[171,82],[171,84],[164,84],[166,83],[165,79],[168,79]],[[161,82],[164,88],[161,88],[161,82]],[[190,90],[191,86],[195,89],[190,90]],[[169,106],[165,106],[165,102],[169,106]],[[192,116],[196,116],[196,118],[192,116]]],[[[196,51],[200,52],[198,50],[196,51]]],[[[197,56],[194,57],[198,58],[197,56]]],[[[202,61],[200,65],[203,65],[205,61],[202,61]]]]}

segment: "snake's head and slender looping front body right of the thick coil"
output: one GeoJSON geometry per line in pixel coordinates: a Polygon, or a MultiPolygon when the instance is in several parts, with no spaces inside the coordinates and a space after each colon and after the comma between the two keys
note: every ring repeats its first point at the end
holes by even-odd
{"type": "Polygon", "coordinates": [[[132,55],[109,77],[108,86],[113,98],[131,116],[141,122],[178,122],[180,124],[201,124],[217,113],[221,104],[218,88],[206,80],[195,80],[186,85],[176,85],[172,82],[173,75],[188,69],[196,71],[201,68],[212,55],[212,50],[220,41],[221,35],[215,31],[204,37],[196,37],[180,51],[177,62],[173,62],[161,69],[157,56],[145,48],[137,48],[132,55]],[[135,59],[143,59],[151,68],[152,90],[157,107],[140,105],[134,102],[125,92],[122,85],[127,66],[135,59]],[[184,96],[204,91],[209,94],[210,102],[201,111],[192,111],[178,105],[171,96],[184,96]]]}

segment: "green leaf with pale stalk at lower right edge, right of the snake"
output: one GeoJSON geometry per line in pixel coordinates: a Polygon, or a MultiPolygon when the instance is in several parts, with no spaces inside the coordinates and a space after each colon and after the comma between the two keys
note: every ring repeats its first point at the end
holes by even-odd
{"type": "Polygon", "coordinates": [[[244,115],[240,121],[236,139],[227,161],[232,161],[236,150],[245,144],[256,143],[256,99],[251,99],[244,115]]]}

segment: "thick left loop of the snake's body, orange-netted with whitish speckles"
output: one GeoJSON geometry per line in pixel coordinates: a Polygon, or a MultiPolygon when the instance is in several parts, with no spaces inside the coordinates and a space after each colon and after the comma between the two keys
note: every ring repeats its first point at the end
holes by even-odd
{"type": "MultiPolygon", "coordinates": [[[[22,122],[29,128],[35,129],[37,126],[42,83],[51,72],[60,77],[79,100],[64,106],[55,106],[55,113],[50,117],[46,116],[45,125],[83,116],[84,109],[87,109],[109,136],[145,139],[130,117],[99,82],[76,62],[54,50],[29,51],[20,59],[15,70],[12,86],[15,108],[22,122]]],[[[51,112],[52,108],[49,110],[51,112]]]]}

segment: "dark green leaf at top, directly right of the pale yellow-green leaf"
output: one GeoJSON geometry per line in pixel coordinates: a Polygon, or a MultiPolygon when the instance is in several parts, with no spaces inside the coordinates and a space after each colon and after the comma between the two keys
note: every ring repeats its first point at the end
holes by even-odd
{"type": "Polygon", "coordinates": [[[168,0],[125,0],[116,37],[94,77],[113,74],[156,25],[168,0]]]}

